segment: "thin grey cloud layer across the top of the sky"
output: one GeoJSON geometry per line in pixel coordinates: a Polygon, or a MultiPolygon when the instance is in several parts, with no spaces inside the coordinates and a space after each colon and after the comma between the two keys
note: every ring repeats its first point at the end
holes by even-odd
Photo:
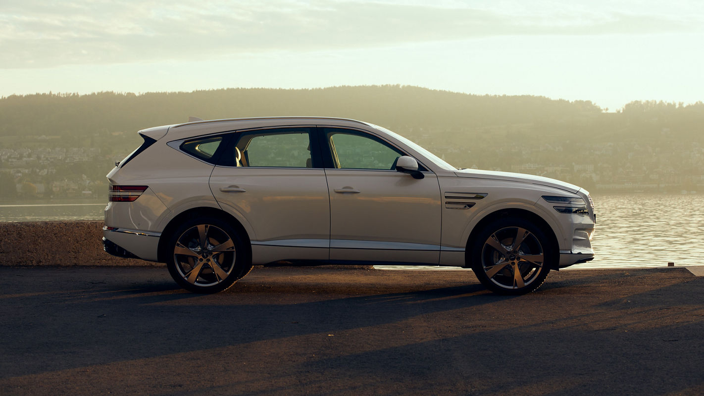
{"type": "Polygon", "coordinates": [[[498,35],[686,32],[704,25],[700,13],[585,10],[581,3],[4,0],[0,68],[217,60],[498,35]]]}

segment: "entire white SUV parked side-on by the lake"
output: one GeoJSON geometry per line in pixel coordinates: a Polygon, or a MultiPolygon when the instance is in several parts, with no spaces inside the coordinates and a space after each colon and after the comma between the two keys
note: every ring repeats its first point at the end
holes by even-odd
{"type": "Polygon", "coordinates": [[[494,292],[522,294],[593,259],[584,189],[458,170],[367,122],[242,118],[139,134],[107,175],[103,246],[166,262],[193,292],[284,261],[465,267],[494,292]]]}

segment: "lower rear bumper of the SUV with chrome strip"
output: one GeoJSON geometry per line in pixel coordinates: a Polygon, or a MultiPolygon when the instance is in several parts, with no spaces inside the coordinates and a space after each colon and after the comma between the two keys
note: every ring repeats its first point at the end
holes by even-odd
{"type": "Polygon", "coordinates": [[[158,261],[160,233],[103,226],[103,249],[118,257],[158,261]]]}

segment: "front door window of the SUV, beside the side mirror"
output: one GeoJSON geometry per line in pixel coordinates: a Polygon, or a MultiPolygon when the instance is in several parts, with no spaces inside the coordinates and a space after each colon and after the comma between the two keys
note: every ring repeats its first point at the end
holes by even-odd
{"type": "Polygon", "coordinates": [[[335,167],[348,169],[394,170],[403,153],[386,143],[344,129],[327,129],[327,141],[335,167]]]}

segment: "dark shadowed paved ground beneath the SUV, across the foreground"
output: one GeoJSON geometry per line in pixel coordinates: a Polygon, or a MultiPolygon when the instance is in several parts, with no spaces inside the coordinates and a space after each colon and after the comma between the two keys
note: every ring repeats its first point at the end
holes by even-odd
{"type": "Polygon", "coordinates": [[[0,395],[702,395],[704,278],[257,268],[195,295],[164,268],[0,267],[0,395]]]}

